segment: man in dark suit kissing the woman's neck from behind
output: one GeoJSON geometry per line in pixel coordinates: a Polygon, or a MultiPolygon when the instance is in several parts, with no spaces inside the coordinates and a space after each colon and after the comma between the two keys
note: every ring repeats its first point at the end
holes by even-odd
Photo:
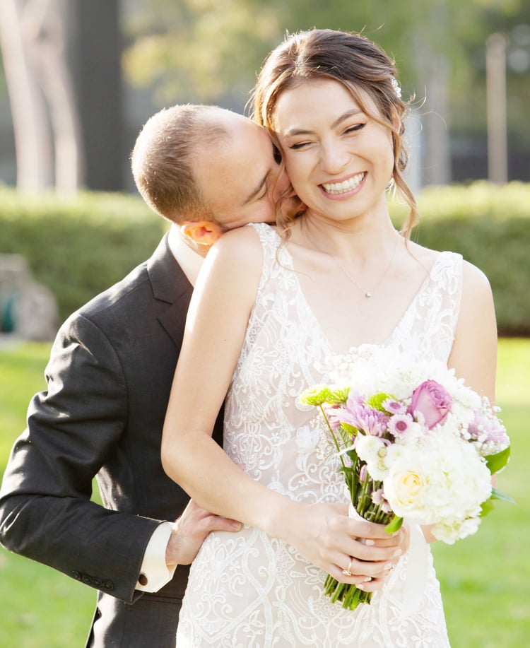
{"type": "MultiPolygon", "coordinates": [[[[88,646],[165,648],[186,565],[209,531],[240,528],[188,504],[160,464],[192,285],[223,232],[274,220],[287,181],[266,131],[217,107],[155,114],[131,161],[139,192],[172,225],[151,259],[61,326],[47,391],[4,473],[0,541],[99,590],[88,646]],[[102,506],[90,501],[94,477],[102,506]]],[[[221,430],[218,420],[218,440],[221,430]]]]}

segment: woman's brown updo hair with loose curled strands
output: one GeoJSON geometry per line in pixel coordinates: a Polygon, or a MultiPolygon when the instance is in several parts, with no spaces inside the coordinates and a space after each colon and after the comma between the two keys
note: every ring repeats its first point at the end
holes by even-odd
{"type": "MultiPolygon", "coordinates": [[[[410,207],[402,228],[409,237],[418,221],[418,210],[416,199],[403,177],[408,156],[401,136],[404,134],[408,107],[401,100],[394,61],[374,42],[360,34],[313,29],[288,35],[267,57],[250,100],[252,118],[269,129],[276,146],[274,115],[278,98],[285,90],[314,78],[341,83],[363,112],[391,130],[394,145],[392,179],[394,187],[410,207]],[[370,97],[379,114],[370,114],[360,90],[370,97]]],[[[287,235],[291,224],[292,218],[284,218],[281,212],[278,213],[278,225],[284,228],[287,235]]]]}

